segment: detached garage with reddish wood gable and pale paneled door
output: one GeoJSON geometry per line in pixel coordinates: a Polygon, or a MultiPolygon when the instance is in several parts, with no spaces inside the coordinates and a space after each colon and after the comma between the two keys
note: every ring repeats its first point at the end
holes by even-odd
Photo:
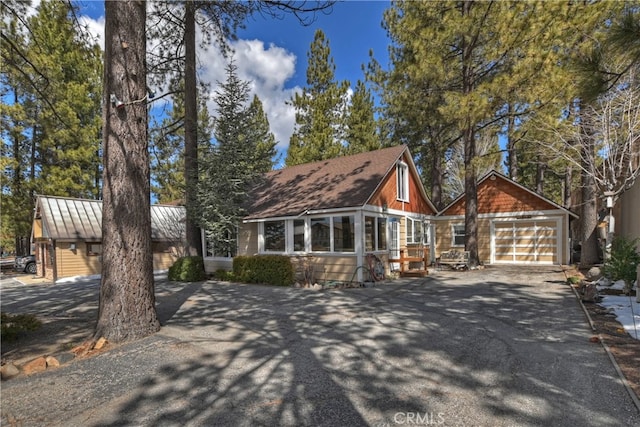
{"type": "MultiPolygon", "coordinates": [[[[435,219],[438,254],[464,250],[464,193],[435,219]]],[[[569,264],[577,215],[492,171],[478,181],[478,256],[483,264],[569,264]]]]}

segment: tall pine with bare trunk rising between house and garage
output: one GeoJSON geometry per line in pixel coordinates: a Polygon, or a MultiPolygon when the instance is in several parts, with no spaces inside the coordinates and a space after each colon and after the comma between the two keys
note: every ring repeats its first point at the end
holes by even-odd
{"type": "MultiPolygon", "coordinates": [[[[606,6],[542,2],[398,2],[385,13],[394,50],[392,94],[397,111],[464,145],[465,246],[477,263],[478,139],[489,128],[565,94],[558,65],[606,6]],[[416,95],[418,94],[418,95],[416,95]],[[517,96],[513,95],[517,94],[517,96]],[[416,101],[419,99],[419,101],[416,101]],[[422,119],[429,120],[429,119],[422,119]]],[[[566,98],[565,98],[566,99],[566,98]]],[[[433,145],[432,145],[433,146],[433,145]]],[[[434,148],[436,148],[434,146],[434,148]]],[[[437,147],[446,154],[451,145],[437,147]]],[[[436,160],[437,161],[437,160],[436,160]]]]}

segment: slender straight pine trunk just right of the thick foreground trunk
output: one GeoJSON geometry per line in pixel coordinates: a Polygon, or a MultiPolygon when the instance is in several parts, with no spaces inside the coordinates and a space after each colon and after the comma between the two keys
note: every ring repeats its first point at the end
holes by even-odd
{"type": "Polygon", "coordinates": [[[202,255],[202,237],[196,220],[198,188],[198,92],[196,81],[195,4],[185,2],[184,16],[184,177],[187,207],[187,252],[202,255]]]}

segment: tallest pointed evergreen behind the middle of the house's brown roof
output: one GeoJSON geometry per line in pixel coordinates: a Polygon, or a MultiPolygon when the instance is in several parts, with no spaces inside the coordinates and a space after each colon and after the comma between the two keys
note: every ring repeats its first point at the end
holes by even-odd
{"type": "Polygon", "coordinates": [[[343,151],[349,84],[335,82],[335,64],[322,30],[316,30],[307,58],[307,87],[292,99],[296,129],[289,142],[287,166],[338,157],[343,151]]]}

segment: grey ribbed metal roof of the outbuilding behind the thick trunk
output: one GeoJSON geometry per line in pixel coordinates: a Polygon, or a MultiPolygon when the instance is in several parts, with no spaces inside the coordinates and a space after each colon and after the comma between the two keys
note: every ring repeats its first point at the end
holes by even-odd
{"type": "MultiPolygon", "coordinates": [[[[185,233],[184,206],[151,206],[151,238],[177,240],[185,233]]],[[[35,217],[42,237],[57,240],[102,240],[102,200],[38,196],[35,217]]]]}

